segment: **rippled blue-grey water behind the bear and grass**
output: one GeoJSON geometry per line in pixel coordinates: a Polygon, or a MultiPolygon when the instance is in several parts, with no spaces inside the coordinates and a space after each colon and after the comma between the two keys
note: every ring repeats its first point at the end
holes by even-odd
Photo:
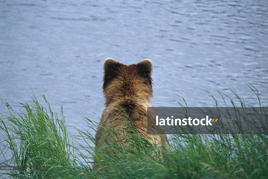
{"type": "MultiPolygon", "coordinates": [[[[104,109],[103,62],[151,58],[156,107],[213,106],[217,90],[268,94],[267,1],[0,1],[0,98],[44,94],[66,123],[104,109]]],[[[0,112],[6,109],[0,107],[0,112]]],[[[73,128],[69,132],[76,134],[73,128]]],[[[0,135],[1,137],[1,135],[0,135]]]]}

